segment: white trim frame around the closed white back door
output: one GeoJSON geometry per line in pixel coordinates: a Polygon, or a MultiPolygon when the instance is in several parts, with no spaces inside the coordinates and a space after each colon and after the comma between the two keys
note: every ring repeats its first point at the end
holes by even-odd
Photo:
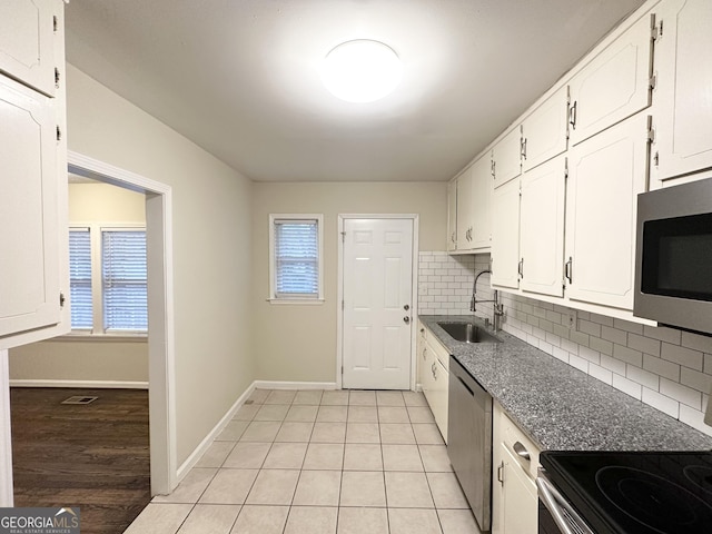
{"type": "Polygon", "coordinates": [[[417,318],[417,281],[418,281],[418,220],[417,214],[339,214],[338,215],[338,284],[337,284],[337,334],[336,334],[336,388],[343,387],[344,366],[344,226],[346,219],[407,219],[413,221],[413,276],[411,296],[411,389],[416,383],[415,344],[417,318]]]}

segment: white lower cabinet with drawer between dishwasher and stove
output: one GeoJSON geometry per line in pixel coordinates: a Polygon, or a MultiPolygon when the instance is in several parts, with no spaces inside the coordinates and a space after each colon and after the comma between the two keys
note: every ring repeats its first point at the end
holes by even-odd
{"type": "Polygon", "coordinates": [[[497,403],[493,411],[492,533],[536,534],[540,451],[497,403]]]}

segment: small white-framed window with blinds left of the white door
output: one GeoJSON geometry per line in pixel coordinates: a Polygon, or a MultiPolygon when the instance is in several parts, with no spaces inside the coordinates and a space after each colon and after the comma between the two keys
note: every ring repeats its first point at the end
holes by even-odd
{"type": "Polygon", "coordinates": [[[320,301],[322,215],[270,215],[270,300],[320,301]]]}

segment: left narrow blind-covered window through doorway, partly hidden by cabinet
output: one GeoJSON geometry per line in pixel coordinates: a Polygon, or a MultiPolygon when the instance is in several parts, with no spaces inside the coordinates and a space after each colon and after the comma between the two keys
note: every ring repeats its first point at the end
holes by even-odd
{"type": "Polygon", "coordinates": [[[69,295],[71,327],[91,329],[93,307],[91,303],[91,233],[89,228],[69,230],[69,295]]]}

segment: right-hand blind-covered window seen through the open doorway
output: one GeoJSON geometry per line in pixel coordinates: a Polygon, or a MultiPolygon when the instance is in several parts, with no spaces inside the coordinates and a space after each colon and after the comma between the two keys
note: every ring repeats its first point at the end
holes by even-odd
{"type": "Polygon", "coordinates": [[[146,230],[101,231],[105,330],[148,329],[146,230]]]}

